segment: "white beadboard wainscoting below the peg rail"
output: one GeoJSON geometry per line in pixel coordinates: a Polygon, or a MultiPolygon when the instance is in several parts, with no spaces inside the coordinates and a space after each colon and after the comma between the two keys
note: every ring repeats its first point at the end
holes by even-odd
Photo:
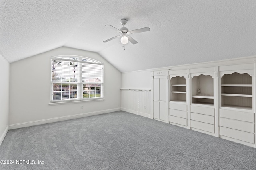
{"type": "Polygon", "coordinates": [[[121,110],[152,118],[150,91],[151,90],[121,89],[121,110]]]}

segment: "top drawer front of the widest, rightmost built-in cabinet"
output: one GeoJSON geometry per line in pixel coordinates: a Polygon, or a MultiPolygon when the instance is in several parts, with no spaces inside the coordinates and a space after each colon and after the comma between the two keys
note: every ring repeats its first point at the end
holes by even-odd
{"type": "Polygon", "coordinates": [[[254,123],[254,113],[220,109],[220,117],[248,121],[254,123]]]}

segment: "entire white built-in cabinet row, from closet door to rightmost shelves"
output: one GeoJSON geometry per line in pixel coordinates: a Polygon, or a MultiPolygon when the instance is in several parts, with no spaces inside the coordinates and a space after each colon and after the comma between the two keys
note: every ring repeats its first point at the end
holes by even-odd
{"type": "Polygon", "coordinates": [[[255,61],[152,72],[153,117],[256,147],[255,74],[255,61]]]}

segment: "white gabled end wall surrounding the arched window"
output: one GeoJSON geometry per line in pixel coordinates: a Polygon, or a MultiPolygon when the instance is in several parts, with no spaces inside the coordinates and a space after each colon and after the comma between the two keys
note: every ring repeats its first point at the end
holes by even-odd
{"type": "Polygon", "coordinates": [[[100,55],[60,47],[10,64],[9,128],[84,117],[120,110],[121,73],[100,55]],[[50,57],[80,55],[104,63],[104,101],[49,106],[50,57]],[[83,106],[84,109],[80,109],[83,106]],[[56,119],[58,118],[58,119],[56,119]]]}

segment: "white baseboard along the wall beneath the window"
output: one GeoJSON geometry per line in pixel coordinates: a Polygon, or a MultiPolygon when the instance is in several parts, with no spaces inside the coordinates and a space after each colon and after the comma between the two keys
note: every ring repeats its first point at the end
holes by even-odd
{"type": "Polygon", "coordinates": [[[53,123],[53,122],[57,122],[57,121],[64,121],[64,120],[70,120],[70,119],[77,119],[77,118],[81,118],[81,117],[100,115],[100,114],[104,114],[104,113],[111,113],[111,112],[120,111],[120,110],[121,110],[121,108],[115,108],[115,109],[108,109],[108,110],[101,110],[101,111],[93,111],[93,112],[89,112],[89,113],[81,113],[81,114],[76,114],[76,115],[54,117],[54,118],[50,118],[50,119],[42,119],[42,120],[37,120],[37,121],[29,121],[29,122],[24,122],[24,123],[16,123],[16,124],[9,125],[9,129],[17,129],[17,128],[21,128],[21,127],[42,125],[42,124],[53,123]]]}

